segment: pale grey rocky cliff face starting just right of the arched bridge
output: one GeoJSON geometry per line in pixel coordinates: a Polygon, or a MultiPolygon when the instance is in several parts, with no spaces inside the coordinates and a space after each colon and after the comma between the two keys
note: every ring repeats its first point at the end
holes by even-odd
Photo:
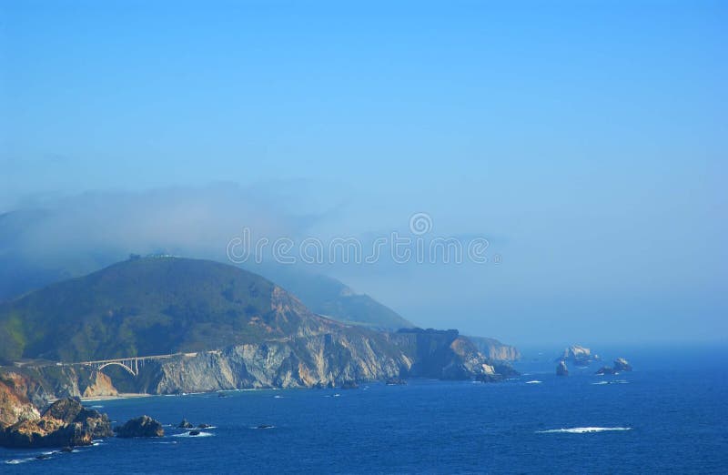
{"type": "MultiPolygon", "coordinates": [[[[347,328],[349,329],[349,328],[347,328]]],[[[498,380],[512,369],[492,365],[457,331],[379,334],[359,330],[247,344],[148,365],[155,394],[247,388],[341,386],[399,377],[498,380]]]]}

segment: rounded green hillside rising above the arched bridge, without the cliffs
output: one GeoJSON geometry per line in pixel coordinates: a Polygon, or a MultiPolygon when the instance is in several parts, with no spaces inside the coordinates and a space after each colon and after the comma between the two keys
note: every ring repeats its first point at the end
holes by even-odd
{"type": "Polygon", "coordinates": [[[321,324],[272,282],[212,261],[137,258],[0,304],[0,359],[166,354],[321,324]]]}

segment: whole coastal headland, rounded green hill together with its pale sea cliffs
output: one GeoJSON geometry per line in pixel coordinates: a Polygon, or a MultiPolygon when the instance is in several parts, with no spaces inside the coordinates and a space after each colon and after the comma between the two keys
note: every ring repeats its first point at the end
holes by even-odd
{"type": "MultiPolygon", "coordinates": [[[[207,260],[131,258],[0,304],[0,359],[32,359],[24,368],[56,388],[56,396],[114,388],[98,384],[98,374],[86,374],[86,367],[53,361],[171,354],[177,355],[127,377],[126,392],[332,386],[407,376],[494,380],[512,370],[457,331],[346,325],[312,313],[265,278],[207,260]],[[38,359],[51,364],[40,366],[38,359]]],[[[124,376],[105,371],[115,383],[119,372],[124,376]]]]}

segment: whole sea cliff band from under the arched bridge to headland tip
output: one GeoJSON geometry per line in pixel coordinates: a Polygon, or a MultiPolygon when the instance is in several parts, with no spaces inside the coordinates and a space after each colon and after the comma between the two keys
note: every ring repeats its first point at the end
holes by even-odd
{"type": "MultiPolygon", "coordinates": [[[[292,311],[290,305],[279,302],[280,314],[292,311]]],[[[137,377],[113,367],[105,369],[111,377],[77,366],[24,370],[56,397],[112,396],[117,389],[174,394],[329,387],[406,377],[493,381],[515,373],[507,364],[490,361],[457,330],[381,333],[323,318],[319,327],[305,328],[290,338],[148,360],[137,377]]]]}

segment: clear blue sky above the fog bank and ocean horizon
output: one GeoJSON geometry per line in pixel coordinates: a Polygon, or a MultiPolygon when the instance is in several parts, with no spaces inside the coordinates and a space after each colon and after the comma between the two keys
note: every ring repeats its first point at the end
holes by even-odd
{"type": "Polygon", "coordinates": [[[511,341],[725,339],[726,24],[723,2],[3,1],[0,211],[218,182],[311,234],[424,211],[501,267],[332,272],[511,341]]]}

